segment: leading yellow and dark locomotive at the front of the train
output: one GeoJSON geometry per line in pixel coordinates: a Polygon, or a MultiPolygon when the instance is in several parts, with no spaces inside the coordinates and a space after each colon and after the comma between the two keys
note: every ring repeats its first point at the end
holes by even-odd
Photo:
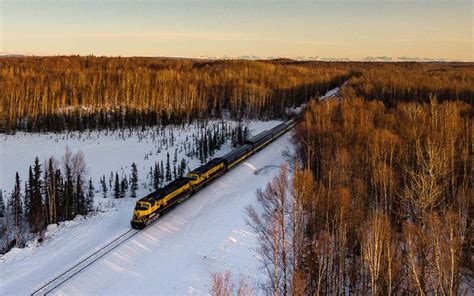
{"type": "Polygon", "coordinates": [[[161,213],[171,206],[182,202],[191,193],[190,180],[182,177],[139,199],[130,222],[132,228],[143,229],[146,225],[156,220],[161,213]]]}

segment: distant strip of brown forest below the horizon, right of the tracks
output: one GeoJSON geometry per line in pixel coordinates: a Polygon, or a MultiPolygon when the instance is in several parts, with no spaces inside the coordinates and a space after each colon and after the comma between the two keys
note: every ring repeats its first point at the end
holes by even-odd
{"type": "Polygon", "coordinates": [[[474,100],[473,63],[363,63],[344,88],[346,96],[381,100],[386,106],[399,102],[474,100]]]}

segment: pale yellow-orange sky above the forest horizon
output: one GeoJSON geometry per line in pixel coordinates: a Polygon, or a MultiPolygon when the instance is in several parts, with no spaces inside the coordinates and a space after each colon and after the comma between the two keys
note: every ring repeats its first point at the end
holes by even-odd
{"type": "Polygon", "coordinates": [[[473,61],[473,3],[0,0],[0,51],[473,61]]]}

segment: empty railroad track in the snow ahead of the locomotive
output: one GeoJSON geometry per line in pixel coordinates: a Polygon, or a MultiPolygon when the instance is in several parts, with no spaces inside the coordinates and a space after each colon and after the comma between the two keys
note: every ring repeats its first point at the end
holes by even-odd
{"type": "Polygon", "coordinates": [[[31,293],[31,295],[48,295],[50,292],[67,282],[69,279],[73,278],[75,275],[77,275],[87,267],[91,266],[94,262],[104,257],[105,255],[113,251],[115,248],[135,236],[138,232],[139,231],[135,229],[127,230],[125,233],[117,236],[112,241],[106,243],[100,249],[88,255],[86,258],[71,266],[66,271],[49,280],[46,284],[42,285],[33,293],[31,293]]]}

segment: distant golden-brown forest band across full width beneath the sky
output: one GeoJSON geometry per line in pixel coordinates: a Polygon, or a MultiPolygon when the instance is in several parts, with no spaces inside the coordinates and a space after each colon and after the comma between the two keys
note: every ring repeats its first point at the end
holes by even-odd
{"type": "Polygon", "coordinates": [[[0,59],[0,132],[116,129],[230,117],[281,118],[347,82],[348,96],[472,100],[472,63],[145,57],[0,59]]]}

